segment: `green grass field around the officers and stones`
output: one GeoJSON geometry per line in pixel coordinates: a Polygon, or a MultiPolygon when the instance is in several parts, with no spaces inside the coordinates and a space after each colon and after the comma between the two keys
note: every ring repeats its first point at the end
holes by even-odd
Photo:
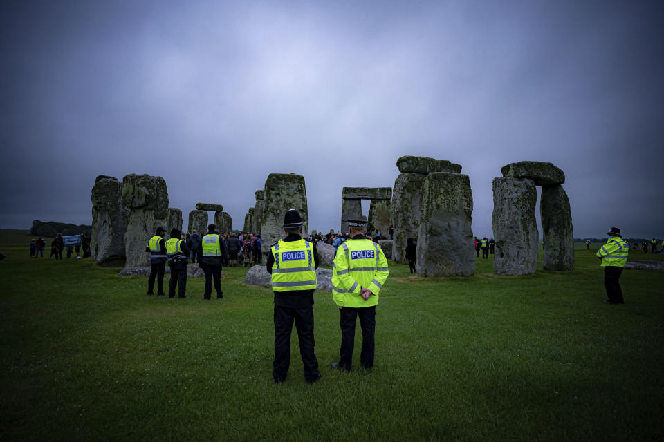
{"type": "Polygon", "coordinates": [[[626,304],[604,305],[595,250],[519,278],[491,259],[444,280],[391,262],[370,372],[359,330],[353,372],[329,367],[339,314],[317,292],[322,378],[304,382],[294,332],[274,385],[273,296],[243,267],[223,300],[194,279],[191,299],[156,298],[89,259],[30,260],[29,238],[0,232],[1,441],[664,439],[664,272],[625,271],[626,304]]]}

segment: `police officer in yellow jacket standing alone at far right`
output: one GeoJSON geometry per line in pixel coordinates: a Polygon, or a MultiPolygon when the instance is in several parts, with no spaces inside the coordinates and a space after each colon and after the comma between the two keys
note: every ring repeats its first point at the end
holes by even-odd
{"type": "Polygon", "coordinates": [[[597,251],[597,257],[602,260],[602,267],[604,267],[604,287],[607,289],[609,298],[604,302],[605,304],[625,304],[618,280],[627,262],[629,244],[623,240],[618,227],[611,227],[607,235],[609,235],[609,240],[597,251]]]}

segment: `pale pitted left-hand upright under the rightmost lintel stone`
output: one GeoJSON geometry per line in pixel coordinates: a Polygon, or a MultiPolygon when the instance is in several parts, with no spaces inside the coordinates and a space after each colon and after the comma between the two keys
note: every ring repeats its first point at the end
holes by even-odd
{"type": "Polygon", "coordinates": [[[491,222],[496,241],[493,269],[497,275],[535,273],[539,249],[535,204],[537,187],[532,180],[494,178],[491,222]]]}

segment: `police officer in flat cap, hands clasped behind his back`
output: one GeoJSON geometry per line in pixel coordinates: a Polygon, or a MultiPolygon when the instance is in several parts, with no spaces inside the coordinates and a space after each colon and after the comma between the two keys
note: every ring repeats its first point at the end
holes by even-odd
{"type": "Polygon", "coordinates": [[[365,238],[367,221],[349,219],[348,225],[350,238],[341,244],[332,272],[332,295],[339,306],[341,325],[339,362],[332,367],[346,371],[353,360],[358,316],[362,328],[360,364],[365,368],[374,366],[376,305],[389,273],[385,253],[376,242],[365,238]]]}

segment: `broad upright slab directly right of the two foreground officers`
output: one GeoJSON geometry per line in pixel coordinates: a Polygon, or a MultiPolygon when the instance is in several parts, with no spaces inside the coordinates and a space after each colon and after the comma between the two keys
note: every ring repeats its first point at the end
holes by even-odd
{"type": "Polygon", "coordinates": [[[424,180],[416,269],[420,276],[472,276],[472,191],[468,175],[430,173],[424,180]]]}

